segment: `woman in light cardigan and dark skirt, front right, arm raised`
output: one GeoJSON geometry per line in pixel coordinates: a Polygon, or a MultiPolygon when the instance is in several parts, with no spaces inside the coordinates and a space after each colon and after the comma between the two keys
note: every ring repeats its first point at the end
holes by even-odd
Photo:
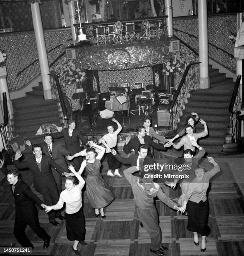
{"type": "Polygon", "coordinates": [[[196,165],[194,168],[196,178],[189,184],[183,206],[180,207],[181,212],[187,210],[187,229],[193,232],[193,241],[196,246],[199,245],[198,233],[202,237],[202,252],[206,251],[206,236],[210,234],[210,228],[208,227],[209,205],[206,196],[209,179],[220,171],[219,164],[217,164],[212,157],[208,157],[208,161],[213,164],[213,169],[204,172],[203,166],[196,165]]]}

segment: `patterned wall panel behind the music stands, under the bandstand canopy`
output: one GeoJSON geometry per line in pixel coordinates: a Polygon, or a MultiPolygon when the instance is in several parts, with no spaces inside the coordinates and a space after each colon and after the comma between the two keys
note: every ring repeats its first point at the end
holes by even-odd
{"type": "Polygon", "coordinates": [[[101,92],[107,92],[109,83],[130,83],[133,88],[134,83],[143,82],[143,87],[150,84],[153,80],[152,68],[145,67],[141,69],[127,69],[114,71],[99,71],[99,83],[101,92]]]}

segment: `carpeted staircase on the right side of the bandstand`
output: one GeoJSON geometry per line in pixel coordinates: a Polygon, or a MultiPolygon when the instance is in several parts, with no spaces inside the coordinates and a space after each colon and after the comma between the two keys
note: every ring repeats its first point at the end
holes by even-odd
{"type": "MultiPolygon", "coordinates": [[[[228,108],[234,90],[234,82],[211,66],[209,67],[209,77],[211,88],[191,92],[186,109],[183,111],[180,123],[178,123],[178,131],[184,128],[186,117],[191,115],[191,112],[198,113],[199,117],[208,125],[208,136],[200,139],[199,144],[206,149],[208,154],[221,154],[229,127],[230,113],[228,108]]],[[[198,122],[196,132],[201,131],[203,131],[203,125],[198,122]]]]}

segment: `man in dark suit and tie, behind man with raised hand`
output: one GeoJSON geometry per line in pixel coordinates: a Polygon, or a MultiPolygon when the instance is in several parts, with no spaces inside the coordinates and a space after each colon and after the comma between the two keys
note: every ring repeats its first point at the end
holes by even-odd
{"type": "MultiPolygon", "coordinates": [[[[64,170],[68,169],[64,156],[70,156],[69,151],[67,151],[61,144],[53,143],[53,137],[50,133],[44,135],[44,141],[46,142],[46,145],[42,148],[43,153],[46,156],[51,156],[54,163],[61,166],[64,170]]],[[[58,187],[58,194],[60,194],[62,192],[62,177],[55,169],[53,169],[53,167],[51,167],[51,170],[58,187]]]]}

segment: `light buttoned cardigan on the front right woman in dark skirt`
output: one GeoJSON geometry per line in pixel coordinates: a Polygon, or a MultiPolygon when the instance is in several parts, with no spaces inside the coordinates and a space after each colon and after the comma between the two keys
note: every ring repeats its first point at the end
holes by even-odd
{"type": "Polygon", "coordinates": [[[214,163],[213,169],[211,171],[205,172],[203,176],[203,180],[199,180],[197,178],[193,179],[193,181],[189,184],[184,201],[188,202],[188,200],[192,202],[199,203],[201,200],[205,202],[207,200],[207,190],[209,186],[209,179],[213,177],[214,174],[220,171],[219,164],[214,163]]]}

